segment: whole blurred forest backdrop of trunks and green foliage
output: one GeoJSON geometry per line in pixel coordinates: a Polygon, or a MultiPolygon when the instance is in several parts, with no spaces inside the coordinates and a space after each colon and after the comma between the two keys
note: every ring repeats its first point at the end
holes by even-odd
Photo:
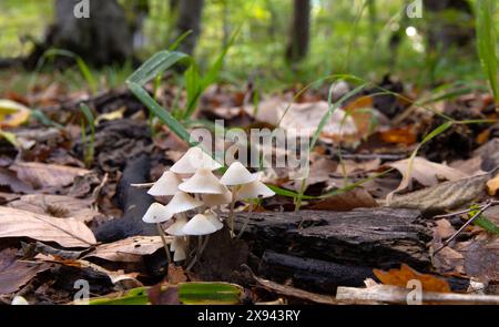
{"type": "Polygon", "coordinates": [[[445,82],[480,74],[475,0],[419,1],[422,18],[407,17],[414,0],[90,0],[89,19],[73,17],[75,2],[2,0],[0,58],[29,58],[32,67],[47,49],[62,48],[94,67],[124,70],[192,30],[179,50],[203,69],[241,28],[226,57],[227,81],[252,75],[272,86],[389,72],[445,82]]]}

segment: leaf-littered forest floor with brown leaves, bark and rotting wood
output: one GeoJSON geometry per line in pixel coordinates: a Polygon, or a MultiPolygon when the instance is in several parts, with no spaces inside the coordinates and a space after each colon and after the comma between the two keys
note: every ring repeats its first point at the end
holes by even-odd
{"type": "MultiPolygon", "coordinates": [[[[154,198],[131,186],[156,181],[185,142],[124,86],[93,95],[61,83],[6,92],[0,302],[68,304],[88,285],[96,304],[401,304],[408,283],[419,280],[426,303],[499,304],[493,100],[472,92],[414,103],[420,94],[403,82],[378,85],[399,96],[366,88],[348,98],[310,150],[305,182],[286,167],[263,170],[277,194],[237,203],[241,238],[223,228],[191,269],[167,265],[155,227],[142,222],[154,198]],[[227,284],[207,284],[192,299],[185,285],[197,282],[227,284]]],[[[316,131],[330,103],[354,89],[337,82],[329,99],[329,86],[259,94],[255,108],[251,86],[212,85],[190,123],[316,131]]],[[[155,99],[171,108],[185,101],[176,94],[165,81],[155,99]]]]}

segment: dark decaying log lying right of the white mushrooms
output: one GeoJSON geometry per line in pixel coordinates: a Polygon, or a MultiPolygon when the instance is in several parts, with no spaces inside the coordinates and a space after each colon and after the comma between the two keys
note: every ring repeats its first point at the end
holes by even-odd
{"type": "Polygon", "coordinates": [[[259,256],[271,249],[347,266],[387,269],[406,263],[420,272],[430,267],[425,244],[431,232],[418,211],[242,213],[236,215],[236,229],[246,217],[249,222],[243,238],[259,256]],[[302,221],[303,228],[298,228],[302,221]]]}

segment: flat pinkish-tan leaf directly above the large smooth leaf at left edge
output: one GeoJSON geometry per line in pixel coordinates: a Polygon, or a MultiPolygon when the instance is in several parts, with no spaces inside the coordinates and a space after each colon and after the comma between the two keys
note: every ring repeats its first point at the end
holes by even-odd
{"type": "Polygon", "coordinates": [[[7,206],[35,214],[55,217],[73,217],[89,223],[100,213],[92,208],[93,200],[75,198],[67,195],[29,194],[10,202],[7,206]]]}

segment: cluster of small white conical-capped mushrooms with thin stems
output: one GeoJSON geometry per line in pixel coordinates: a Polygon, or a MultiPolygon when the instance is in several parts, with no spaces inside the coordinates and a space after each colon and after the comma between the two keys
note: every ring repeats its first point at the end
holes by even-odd
{"type": "MultiPolygon", "coordinates": [[[[251,173],[240,162],[234,162],[218,180],[213,171],[222,165],[197,146],[189,151],[147,191],[153,196],[172,196],[166,205],[153,203],[142,219],[155,223],[163,237],[166,255],[173,252],[173,260],[187,258],[189,236],[198,236],[196,257],[207,244],[207,237],[223,228],[222,207],[228,205],[227,225],[234,236],[234,206],[236,201],[269,197],[274,192],[258,181],[257,173],[251,173]],[[189,213],[195,211],[196,214],[189,213]],[[173,219],[165,231],[161,223],[173,219]],[[174,236],[170,251],[164,237],[174,236]],[[203,239],[204,236],[204,239],[203,239]]],[[[244,227],[242,228],[244,231],[244,227]]],[[[241,232],[242,232],[241,231],[241,232]]]]}

